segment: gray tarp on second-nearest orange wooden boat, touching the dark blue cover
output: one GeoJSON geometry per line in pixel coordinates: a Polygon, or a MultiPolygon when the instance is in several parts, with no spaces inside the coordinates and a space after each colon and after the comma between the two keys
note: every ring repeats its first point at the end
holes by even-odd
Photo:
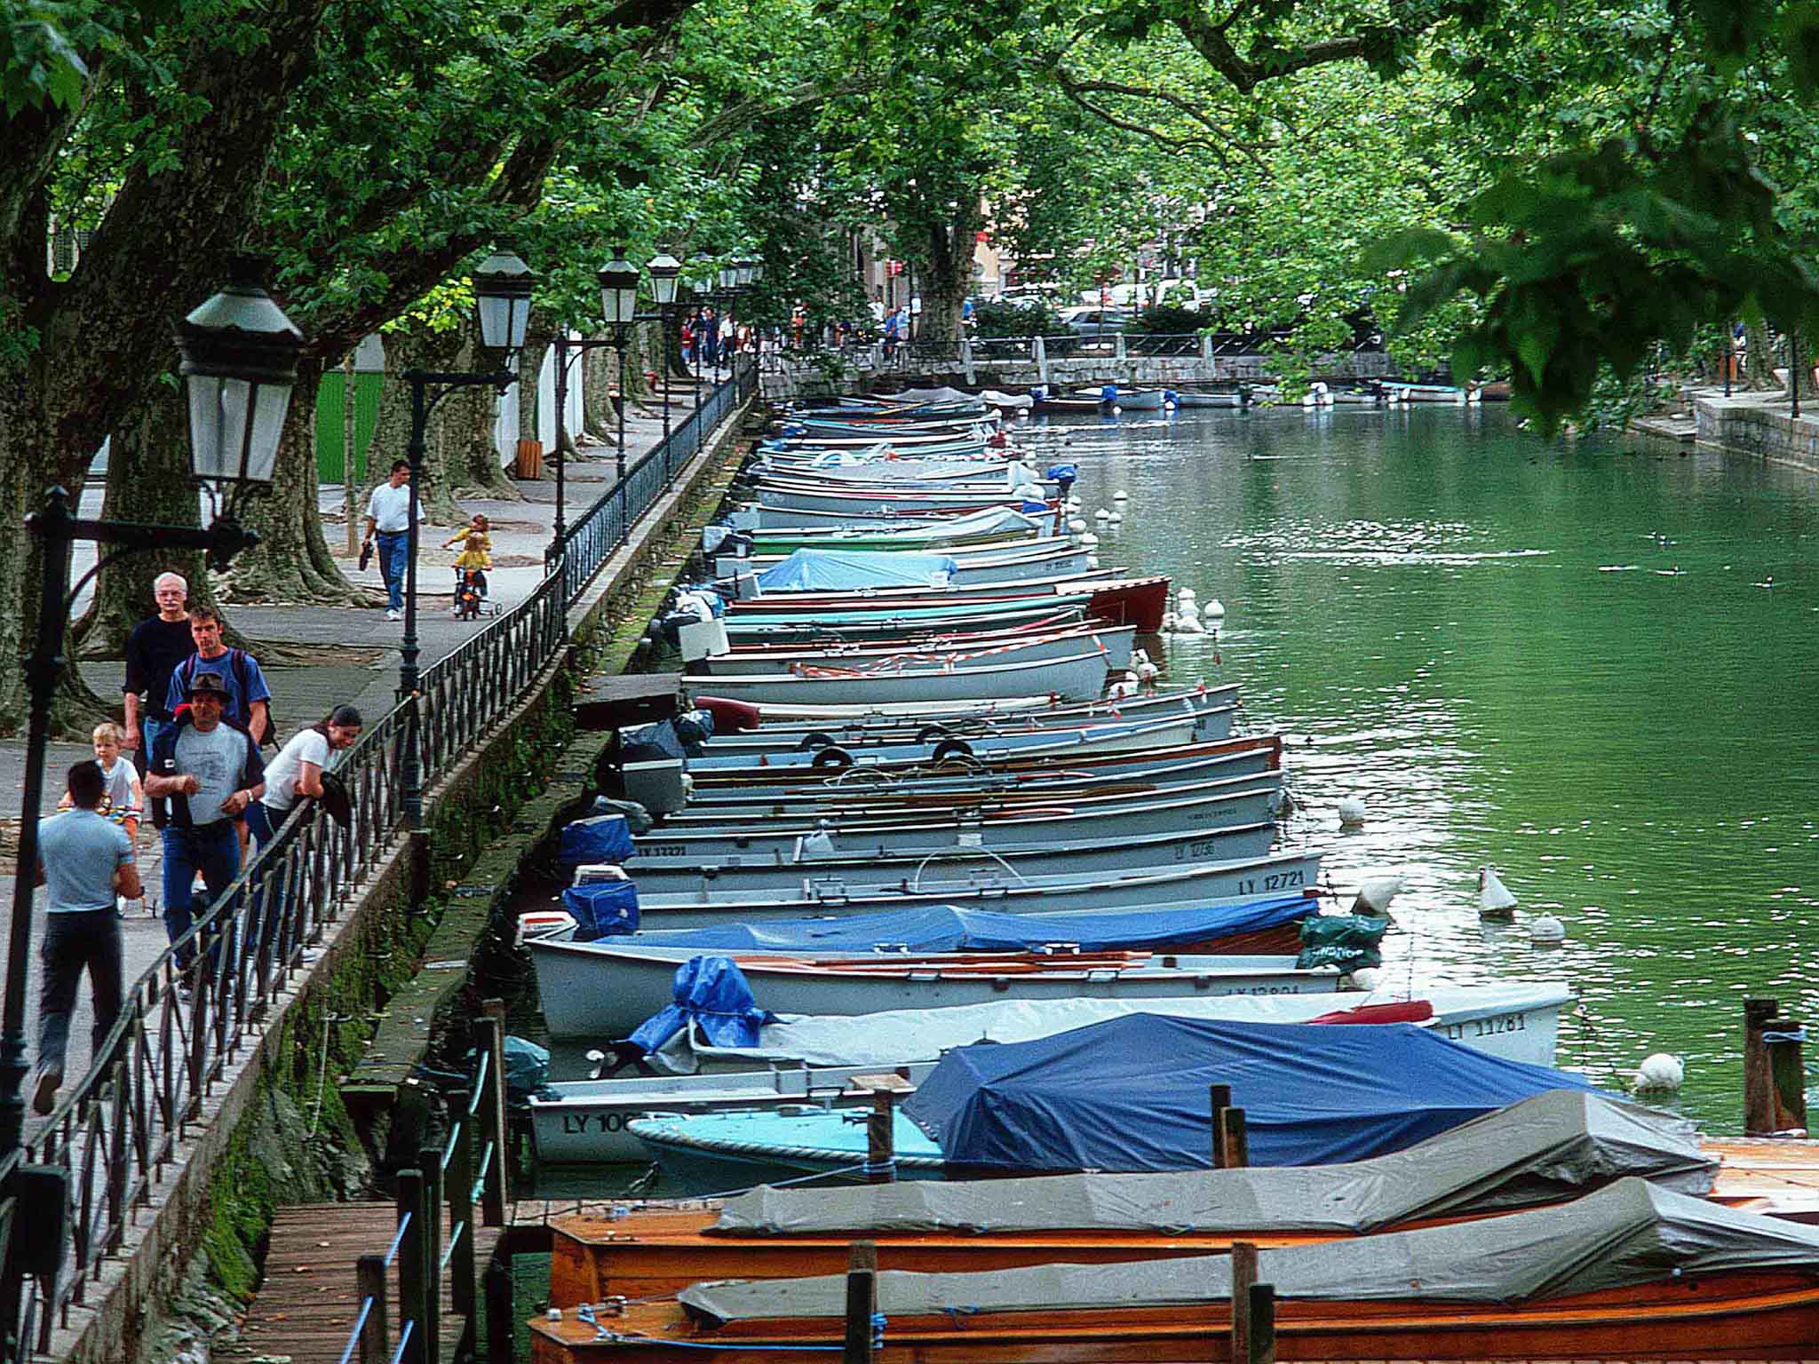
{"type": "Polygon", "coordinates": [[[1424,1217],[1557,1202],[1628,1175],[1704,1195],[1717,1160],[1699,1148],[1690,1122],[1597,1093],[1550,1089],[1406,1151],[1341,1166],[760,1186],[728,1199],[713,1231],[1364,1233],[1424,1217]]]}

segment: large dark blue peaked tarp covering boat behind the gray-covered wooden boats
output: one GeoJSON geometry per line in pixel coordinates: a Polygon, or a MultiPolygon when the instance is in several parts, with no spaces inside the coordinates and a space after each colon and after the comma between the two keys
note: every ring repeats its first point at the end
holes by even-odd
{"type": "Polygon", "coordinates": [[[1399,1151],[1577,1075],[1413,1024],[1306,1028],[1111,1018],[1035,1042],[957,1048],[904,1104],[951,1164],[1184,1169],[1211,1164],[1210,1084],[1244,1109],[1253,1166],[1399,1151]]]}

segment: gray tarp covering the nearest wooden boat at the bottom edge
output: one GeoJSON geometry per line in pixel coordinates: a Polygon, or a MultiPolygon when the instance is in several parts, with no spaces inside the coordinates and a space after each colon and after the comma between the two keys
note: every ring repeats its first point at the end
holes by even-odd
{"type": "MultiPolygon", "coordinates": [[[[1819,1277],[1819,1228],[1739,1213],[1624,1178],[1577,1202],[1419,1231],[1264,1249],[1257,1282],[1281,1299],[1528,1302],[1726,1269],[1819,1277]]],[[[1137,1264],[1044,1264],[990,1273],[879,1275],[889,1317],[1219,1302],[1231,1257],[1137,1264]]],[[[677,1295],[697,1317],[842,1317],[846,1277],[726,1280],[677,1295]]]]}

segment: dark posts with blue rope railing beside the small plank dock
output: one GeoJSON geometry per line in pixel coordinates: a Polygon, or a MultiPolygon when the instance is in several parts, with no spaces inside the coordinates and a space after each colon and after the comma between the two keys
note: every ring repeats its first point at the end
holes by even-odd
{"type": "Polygon", "coordinates": [[[418,1151],[417,1168],[398,1173],[398,1229],[384,1253],[355,1264],[360,1304],[340,1364],[438,1364],[442,1360],[442,1284],[462,1319],[449,1355],[475,1359],[478,1300],[478,1226],[506,1224],[506,1033],[500,1015],[478,1024],[478,1058],[466,1089],[447,1095],[449,1135],[418,1151]],[[442,1222],[447,1211],[447,1235],[442,1222]],[[478,1209],[478,1219],[475,1217],[478,1209]],[[389,1271],[397,1266],[398,1342],[391,1342],[389,1271]]]}

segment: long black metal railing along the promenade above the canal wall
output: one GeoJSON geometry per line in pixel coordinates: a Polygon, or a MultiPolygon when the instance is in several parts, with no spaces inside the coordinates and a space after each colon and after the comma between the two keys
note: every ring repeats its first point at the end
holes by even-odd
{"type": "MultiPolygon", "coordinates": [[[[626,542],[677,471],[713,429],[757,391],[757,366],[733,375],[640,458],[569,529],[562,557],[529,598],[422,673],[400,702],[335,766],[353,817],[344,827],[311,818],[298,802],[233,886],[135,980],[120,1020],[95,1048],[22,1153],[0,1166],[0,1189],[18,1188],[20,1166],[69,1171],[69,1239],[53,1275],[0,1282],[0,1360],[47,1351],[58,1324],[87,1302],[104,1260],[122,1249],[133,1219],[153,1206],[166,1166],[189,1128],[206,1126],[207,1100],[227,1068],[256,1042],[262,1020],[309,951],[353,904],[391,853],[404,820],[406,746],[417,735],[422,780],[444,777],[515,706],[568,642],[566,613],[608,557],[626,542]]],[[[324,1058],[327,1057],[324,1037],[324,1058]]],[[[326,1078],[318,1078],[324,1084],[326,1078]]],[[[320,1109],[320,1100],[318,1100],[320,1109]]],[[[18,1237],[15,1199],[0,1200],[0,1264],[18,1237]]]]}

